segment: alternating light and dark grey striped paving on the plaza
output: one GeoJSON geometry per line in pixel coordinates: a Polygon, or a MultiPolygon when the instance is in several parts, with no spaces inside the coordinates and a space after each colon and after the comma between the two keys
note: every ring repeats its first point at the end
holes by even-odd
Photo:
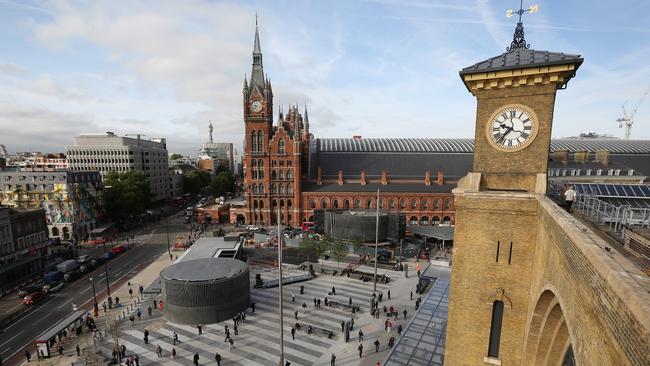
{"type": "MultiPolygon", "coordinates": [[[[343,308],[326,307],[323,298],[336,288],[337,297],[352,298],[355,305],[360,306],[360,312],[354,316],[355,327],[351,332],[351,339],[356,340],[359,327],[370,322],[368,316],[361,319],[361,314],[367,314],[372,297],[372,282],[350,280],[341,276],[322,276],[315,280],[285,285],[283,287],[284,301],[284,328],[285,359],[291,365],[317,365],[324,364],[323,360],[329,359],[335,345],[343,342],[341,322],[348,321],[352,313],[343,308]],[[304,294],[300,294],[300,286],[304,286],[304,294]],[[295,302],[292,302],[295,295],[295,302]],[[321,299],[321,308],[315,308],[314,297],[321,299]],[[307,306],[303,308],[303,303],[307,306]],[[294,312],[298,311],[298,319],[294,312]],[[291,327],[296,323],[302,326],[296,332],[295,339],[291,338],[291,327]],[[330,339],[325,334],[314,332],[307,334],[307,327],[320,328],[332,331],[334,336],[330,339]]],[[[377,285],[377,290],[386,292],[388,286],[377,285]]],[[[238,335],[234,335],[232,321],[219,324],[203,325],[203,334],[199,335],[194,326],[173,324],[159,319],[154,323],[136,323],[135,327],[125,324],[120,334],[120,344],[126,346],[126,354],[137,354],[141,365],[191,365],[195,353],[199,354],[200,364],[214,364],[215,354],[222,357],[223,365],[241,366],[268,366],[277,365],[279,362],[279,317],[278,317],[278,291],[277,288],[255,289],[251,286],[251,302],[255,303],[255,313],[247,311],[246,321],[238,326],[238,335]],[[225,342],[224,325],[230,328],[234,340],[234,349],[229,350],[225,342]],[[149,331],[149,344],[144,344],[144,329],[149,331]],[[173,333],[178,334],[179,343],[173,344],[173,333]],[[163,349],[163,357],[156,355],[156,346],[163,349]],[[176,358],[172,360],[171,350],[175,348],[176,358]]],[[[366,330],[364,329],[364,333],[366,330]]],[[[381,333],[381,332],[379,332],[381,333]]],[[[366,333],[370,339],[372,332],[366,333]]],[[[102,345],[103,353],[110,355],[112,344],[102,345]]],[[[340,347],[339,347],[340,348],[340,347]]],[[[340,358],[340,361],[345,361],[340,358]]],[[[357,358],[350,358],[349,364],[356,364],[357,358]]],[[[338,362],[337,364],[348,364],[338,362]]]]}

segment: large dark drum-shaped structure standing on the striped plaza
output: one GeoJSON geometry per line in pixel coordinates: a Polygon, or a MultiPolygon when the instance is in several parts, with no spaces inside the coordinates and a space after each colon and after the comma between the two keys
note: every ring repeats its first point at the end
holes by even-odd
{"type": "Polygon", "coordinates": [[[250,303],[248,264],[227,258],[201,258],[160,272],[163,312],[179,324],[218,323],[250,303]]]}

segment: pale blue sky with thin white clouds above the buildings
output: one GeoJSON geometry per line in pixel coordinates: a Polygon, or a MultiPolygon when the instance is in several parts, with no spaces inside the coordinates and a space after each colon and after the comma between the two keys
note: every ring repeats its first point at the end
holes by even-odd
{"type": "MultiPolygon", "coordinates": [[[[524,15],[531,48],[585,59],[558,91],[554,137],[622,137],[621,105],[650,87],[650,1],[536,4],[524,15]]],[[[518,5],[0,0],[0,144],[60,152],[112,131],[196,155],[212,121],[215,140],[241,151],[256,13],[276,111],[306,104],[316,137],[473,137],[476,101],[458,71],[505,52],[516,24],[505,11],[518,5]]],[[[650,98],[632,138],[650,139],[650,98]]]]}

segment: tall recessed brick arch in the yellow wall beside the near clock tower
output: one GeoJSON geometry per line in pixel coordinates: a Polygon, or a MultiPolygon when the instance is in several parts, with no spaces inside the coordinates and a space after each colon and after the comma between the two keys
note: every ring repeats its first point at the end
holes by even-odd
{"type": "Polygon", "coordinates": [[[569,325],[560,299],[552,290],[540,294],[527,334],[524,359],[531,365],[560,365],[567,353],[573,357],[569,325]]]}

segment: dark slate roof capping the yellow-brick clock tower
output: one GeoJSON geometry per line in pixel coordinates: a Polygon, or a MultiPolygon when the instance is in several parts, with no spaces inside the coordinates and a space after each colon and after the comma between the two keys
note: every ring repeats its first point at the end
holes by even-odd
{"type": "Polygon", "coordinates": [[[565,64],[577,64],[577,70],[582,61],[584,59],[580,55],[517,48],[466,67],[460,71],[460,75],[565,64]]]}

